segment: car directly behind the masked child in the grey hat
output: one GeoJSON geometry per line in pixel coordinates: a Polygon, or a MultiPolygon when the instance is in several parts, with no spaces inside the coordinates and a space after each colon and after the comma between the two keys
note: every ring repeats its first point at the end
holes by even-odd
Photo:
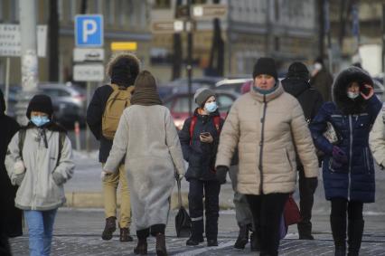
{"type": "MultiPolygon", "coordinates": [[[[239,94],[231,91],[216,91],[218,109],[220,110],[221,117],[224,119],[232,103],[237,100],[239,94]]],[[[190,97],[193,98],[193,93],[190,94],[190,97]]],[[[189,113],[189,94],[188,93],[176,93],[171,97],[164,100],[164,106],[170,109],[171,115],[174,118],[175,127],[181,130],[183,128],[184,120],[190,116],[189,113]]],[[[198,106],[192,100],[192,111],[198,106]]]]}

